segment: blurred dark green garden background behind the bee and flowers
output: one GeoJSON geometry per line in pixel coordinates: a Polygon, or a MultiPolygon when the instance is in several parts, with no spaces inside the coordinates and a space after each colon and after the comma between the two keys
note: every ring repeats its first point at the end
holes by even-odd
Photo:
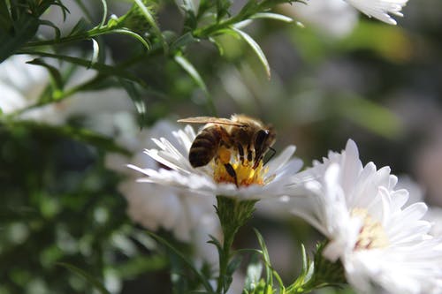
{"type": "MultiPolygon", "coordinates": [[[[57,8],[44,18],[68,32],[84,17],[80,3],[63,1],[71,11],[65,21],[57,8]]],[[[130,7],[116,0],[108,4],[116,15],[130,7]]],[[[98,22],[99,1],[84,5],[88,18],[98,22]]],[[[178,7],[160,3],[156,17],[162,30],[182,29],[178,7]]],[[[233,9],[239,7],[235,2],[233,9]]],[[[258,20],[247,28],[271,64],[271,79],[244,41],[223,36],[223,56],[205,41],[186,52],[209,96],[179,65],[158,54],[133,60],[133,72],[149,84],[149,91],[141,92],[142,105],[107,81],[33,109],[24,114],[26,120],[0,124],[0,293],[94,292],[90,280],[62,263],[104,281],[112,293],[172,293],[171,265],[178,267],[179,261],[126,215],[126,199],[118,189],[126,176],[109,168],[108,156],[130,158],[134,146],[149,141],[140,139],[143,130],[160,119],[174,124],[179,117],[215,115],[213,109],[218,117],[246,113],[273,124],[277,152],[294,144],[305,166],[354,139],[363,163],[390,166],[415,200],[423,198],[438,211],[440,11],[439,0],[410,0],[398,26],[389,26],[341,0],[281,5],[278,12],[295,23],[258,20]],[[144,108],[142,116],[137,108],[144,108]]],[[[38,34],[50,37],[53,29],[42,26],[38,34]]],[[[141,49],[122,35],[107,35],[101,42],[110,63],[141,49]]],[[[88,56],[90,47],[83,41],[57,50],[88,56]]],[[[6,114],[8,107],[26,105],[52,82],[46,69],[25,64],[32,59],[18,55],[0,64],[0,108],[6,114]]],[[[69,72],[69,87],[94,74],[69,64],[57,66],[69,72]]],[[[235,246],[257,247],[252,227],[263,233],[273,266],[287,283],[299,272],[301,243],[312,248],[321,239],[306,223],[263,204],[241,229],[235,246]]],[[[157,232],[191,250],[170,230],[157,232]]]]}

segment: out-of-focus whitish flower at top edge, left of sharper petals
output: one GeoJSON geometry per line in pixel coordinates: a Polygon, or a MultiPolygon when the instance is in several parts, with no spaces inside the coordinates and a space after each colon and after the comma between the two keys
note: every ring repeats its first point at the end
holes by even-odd
{"type": "Polygon", "coordinates": [[[358,22],[358,12],[343,0],[309,0],[281,5],[284,13],[311,24],[320,31],[334,37],[350,34],[358,22]]]}

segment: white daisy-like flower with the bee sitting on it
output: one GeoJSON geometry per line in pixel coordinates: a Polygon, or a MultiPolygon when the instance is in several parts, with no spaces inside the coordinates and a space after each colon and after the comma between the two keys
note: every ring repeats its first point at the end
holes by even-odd
{"type": "Polygon", "coordinates": [[[301,168],[300,160],[290,160],[295,147],[289,146],[266,166],[260,164],[258,168],[252,169],[238,164],[236,173],[244,178],[244,181],[239,182],[247,184],[237,187],[233,181],[225,183],[216,179],[230,177],[222,164],[217,165],[212,161],[196,169],[190,165],[188,153],[195,138],[194,129],[190,125],[172,134],[178,144],[164,138],[153,139],[158,149],[145,150],[147,155],[163,164],[166,169],[143,169],[129,165],[133,170],[148,176],[139,179],[139,182],[174,186],[186,192],[209,196],[224,195],[238,197],[240,200],[259,200],[285,194],[289,186],[288,176],[301,168]]]}

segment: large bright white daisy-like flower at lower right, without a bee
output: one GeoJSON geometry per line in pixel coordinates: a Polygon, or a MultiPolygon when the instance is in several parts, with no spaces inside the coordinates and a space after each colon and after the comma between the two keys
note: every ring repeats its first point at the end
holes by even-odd
{"type": "MultiPolygon", "coordinates": [[[[393,190],[390,169],[362,166],[354,141],[341,154],[300,175],[307,197],[292,197],[300,215],[329,239],[324,257],[341,260],[347,281],[363,292],[374,284],[392,293],[442,290],[442,242],[428,232],[422,202],[404,207],[407,190],[393,190]]],[[[286,199],[287,200],[287,199],[286,199]]]]}

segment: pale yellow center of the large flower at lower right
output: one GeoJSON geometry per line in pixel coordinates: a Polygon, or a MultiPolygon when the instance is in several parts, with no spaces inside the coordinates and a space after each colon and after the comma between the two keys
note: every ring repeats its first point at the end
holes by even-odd
{"type": "Polygon", "coordinates": [[[388,242],[388,237],[385,233],[384,227],[380,222],[377,222],[369,215],[365,208],[354,208],[351,212],[352,217],[359,217],[362,219],[362,227],[359,231],[359,236],[354,245],[354,250],[384,248],[388,242]]]}

